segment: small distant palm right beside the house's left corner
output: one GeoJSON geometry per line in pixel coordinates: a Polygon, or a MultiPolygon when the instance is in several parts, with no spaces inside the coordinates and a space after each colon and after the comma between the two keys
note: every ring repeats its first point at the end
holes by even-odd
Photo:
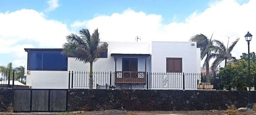
{"type": "Polygon", "coordinates": [[[25,76],[25,67],[19,66],[14,68],[14,70],[15,70],[15,80],[18,80],[23,84],[26,84],[26,82],[24,81],[26,80],[26,77],[27,77],[25,76]]]}

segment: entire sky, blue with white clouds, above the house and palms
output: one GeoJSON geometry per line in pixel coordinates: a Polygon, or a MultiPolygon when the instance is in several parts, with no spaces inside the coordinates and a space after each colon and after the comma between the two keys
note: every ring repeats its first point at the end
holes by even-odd
{"type": "Polygon", "coordinates": [[[132,42],[135,36],[188,41],[214,31],[224,43],[241,38],[233,51],[239,58],[244,34],[256,33],[255,6],[254,0],[0,0],[0,65],[24,66],[24,48],[60,48],[82,28],[98,28],[103,41],[132,42]]]}

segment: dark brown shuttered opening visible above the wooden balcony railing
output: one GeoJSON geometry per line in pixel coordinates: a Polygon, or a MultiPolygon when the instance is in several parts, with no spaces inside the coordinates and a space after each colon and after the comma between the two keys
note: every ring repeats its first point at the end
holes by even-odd
{"type": "Polygon", "coordinates": [[[123,58],[122,71],[138,71],[138,58],[123,58]]]}

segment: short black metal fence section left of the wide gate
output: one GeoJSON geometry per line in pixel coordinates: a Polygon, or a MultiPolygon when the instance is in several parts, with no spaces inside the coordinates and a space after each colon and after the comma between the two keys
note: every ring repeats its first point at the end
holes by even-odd
{"type": "Polygon", "coordinates": [[[0,87],[14,87],[14,70],[0,71],[0,87]]]}

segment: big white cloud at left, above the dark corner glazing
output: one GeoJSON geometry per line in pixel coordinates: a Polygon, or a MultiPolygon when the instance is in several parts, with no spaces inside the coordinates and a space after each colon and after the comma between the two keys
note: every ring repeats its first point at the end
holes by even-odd
{"type": "Polygon", "coordinates": [[[0,25],[0,54],[11,54],[20,60],[16,63],[24,64],[27,60],[24,48],[61,48],[70,33],[62,22],[47,20],[29,9],[0,13],[0,25]]]}

